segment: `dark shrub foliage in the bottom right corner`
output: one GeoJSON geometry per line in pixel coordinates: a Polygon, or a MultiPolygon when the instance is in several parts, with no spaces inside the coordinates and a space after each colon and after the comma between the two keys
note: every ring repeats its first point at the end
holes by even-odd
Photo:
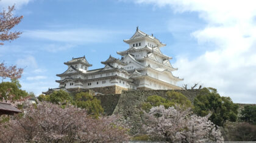
{"type": "Polygon", "coordinates": [[[229,130],[229,138],[232,141],[256,141],[256,125],[248,122],[225,126],[225,130],[229,130]]]}

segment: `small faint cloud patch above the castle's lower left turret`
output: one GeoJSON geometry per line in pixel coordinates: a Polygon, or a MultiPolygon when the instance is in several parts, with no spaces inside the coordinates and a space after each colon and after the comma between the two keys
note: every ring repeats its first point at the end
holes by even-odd
{"type": "Polygon", "coordinates": [[[25,58],[16,61],[18,67],[37,68],[37,61],[34,56],[26,56],[25,58]]]}

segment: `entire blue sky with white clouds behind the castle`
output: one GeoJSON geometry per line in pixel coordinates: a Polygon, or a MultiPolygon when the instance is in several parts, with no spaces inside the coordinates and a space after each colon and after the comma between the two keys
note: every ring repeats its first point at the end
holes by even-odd
{"type": "MultiPolygon", "coordinates": [[[[184,80],[216,88],[233,102],[256,104],[256,1],[205,0],[1,0],[23,15],[20,38],[0,45],[0,61],[24,68],[20,83],[40,95],[56,88],[63,62],[84,56],[104,67],[109,55],[129,46],[136,27],[166,47],[184,80]]],[[[6,79],[5,81],[8,81],[6,79]]]]}

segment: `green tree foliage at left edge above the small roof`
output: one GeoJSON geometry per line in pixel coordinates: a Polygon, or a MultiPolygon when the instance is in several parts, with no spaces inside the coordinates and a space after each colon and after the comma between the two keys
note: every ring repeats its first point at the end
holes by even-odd
{"type": "Polygon", "coordinates": [[[0,83],[0,101],[4,99],[16,101],[18,99],[26,97],[27,95],[27,92],[18,88],[15,82],[0,83]]]}

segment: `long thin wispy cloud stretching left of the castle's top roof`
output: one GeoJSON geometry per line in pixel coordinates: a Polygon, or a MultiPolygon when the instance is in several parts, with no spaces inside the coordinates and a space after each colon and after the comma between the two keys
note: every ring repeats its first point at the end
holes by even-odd
{"type": "Polygon", "coordinates": [[[23,37],[32,39],[42,39],[57,42],[73,42],[88,43],[88,42],[108,42],[115,38],[115,35],[123,34],[112,30],[99,29],[64,29],[64,30],[24,30],[23,37]]]}

